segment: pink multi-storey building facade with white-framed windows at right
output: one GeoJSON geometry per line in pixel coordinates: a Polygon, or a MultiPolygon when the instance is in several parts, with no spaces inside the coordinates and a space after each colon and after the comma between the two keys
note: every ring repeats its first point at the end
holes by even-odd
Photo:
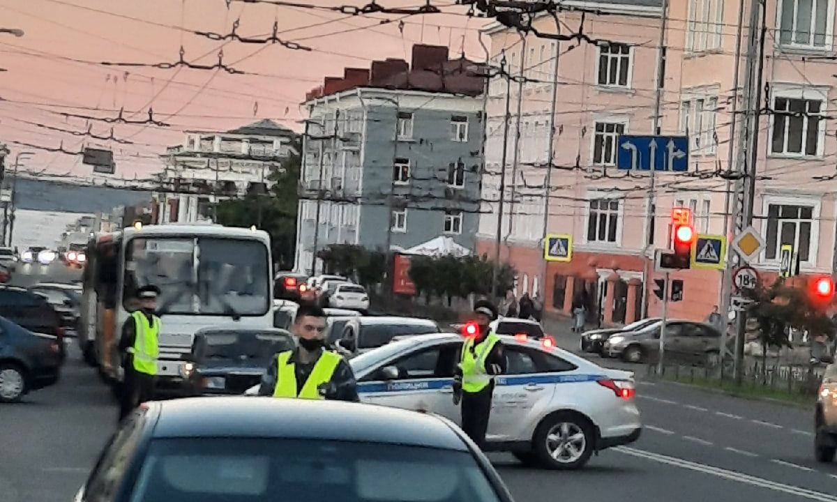
{"type": "MultiPolygon", "coordinates": [[[[584,290],[603,324],[619,324],[639,318],[643,308],[647,315],[660,313],[653,249],[670,247],[672,207],[690,207],[698,233],[732,238],[732,206],[726,200],[731,188],[717,175],[731,159],[737,166],[737,138],[743,133],[743,77],[735,90],[741,3],[670,2],[663,69],[657,64],[660,1],[584,4],[608,14],[588,15],[584,22],[584,33],[598,44],[555,44],[521,38],[504,27],[486,30],[493,64],[505,54],[511,74],[530,80],[522,86],[520,103],[518,84],[511,82],[500,258],[516,267],[518,294],[537,290],[547,310],[568,313],[584,290]],[[546,187],[556,59],[552,174],[546,187]],[[652,204],[648,177],[619,172],[615,156],[619,134],[654,133],[658,85],[660,134],[689,136],[690,166],[686,175],[656,176],[652,204]],[[734,103],[739,113],[733,113],[734,103]],[[573,236],[571,262],[544,264],[545,233],[573,236]]],[[[829,177],[837,178],[837,136],[829,126],[829,104],[837,96],[832,76],[837,64],[827,57],[834,50],[834,0],[812,4],[806,11],[778,0],[766,8],[763,103],[773,113],[759,120],[753,209],[753,225],[767,243],[753,265],[766,277],[778,270],[783,244],[800,254],[804,275],[833,269],[837,179],[829,177]]],[[[747,12],[743,18],[746,23],[747,12]]],[[[566,33],[579,26],[579,15],[564,13],[562,22],[566,33]]],[[[547,33],[555,33],[554,24],[551,18],[536,21],[547,33]]],[[[746,25],[743,38],[746,42],[746,25]]],[[[496,78],[486,110],[483,182],[483,197],[492,201],[499,198],[505,106],[506,84],[496,78]]],[[[497,206],[480,218],[478,250],[490,257],[496,253],[497,206]]],[[[721,304],[721,271],[691,269],[672,277],[684,280],[685,300],[669,305],[670,316],[701,320],[721,304]]]]}

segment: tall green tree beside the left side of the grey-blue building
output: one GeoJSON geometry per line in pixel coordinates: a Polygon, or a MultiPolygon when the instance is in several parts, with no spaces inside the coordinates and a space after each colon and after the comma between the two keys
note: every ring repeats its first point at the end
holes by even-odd
{"type": "Polygon", "coordinates": [[[280,269],[290,269],[296,254],[296,210],[299,206],[297,184],[300,179],[299,153],[295,142],[288,158],[270,167],[267,178],[275,184],[267,194],[248,194],[218,204],[218,223],[228,227],[249,228],[257,225],[270,234],[273,260],[280,269]]]}

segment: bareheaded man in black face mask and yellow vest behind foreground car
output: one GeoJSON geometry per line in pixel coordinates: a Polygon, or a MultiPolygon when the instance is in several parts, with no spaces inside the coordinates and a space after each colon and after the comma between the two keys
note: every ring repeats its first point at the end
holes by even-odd
{"type": "Polygon", "coordinates": [[[290,329],[298,347],[276,354],[259,395],[360,401],[352,366],[326,347],[326,313],[316,305],[300,305],[290,329]]]}

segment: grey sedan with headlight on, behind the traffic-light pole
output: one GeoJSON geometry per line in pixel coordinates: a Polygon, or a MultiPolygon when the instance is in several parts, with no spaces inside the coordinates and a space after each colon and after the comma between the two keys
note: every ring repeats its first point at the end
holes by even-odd
{"type": "MultiPolygon", "coordinates": [[[[660,325],[655,322],[636,331],[610,336],[603,355],[628,362],[655,360],[660,351],[660,325]]],[[[721,351],[721,333],[712,325],[692,320],[665,323],[665,354],[678,360],[716,362],[721,351]]]]}

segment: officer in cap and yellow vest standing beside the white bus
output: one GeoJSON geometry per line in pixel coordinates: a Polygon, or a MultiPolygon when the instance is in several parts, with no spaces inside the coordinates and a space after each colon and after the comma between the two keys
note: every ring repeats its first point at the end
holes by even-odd
{"type": "Polygon", "coordinates": [[[155,315],[157,286],[143,286],[136,290],[139,310],[134,310],[122,325],[119,352],[125,378],[122,381],[120,397],[120,420],[130,414],[141,402],[154,398],[154,384],[157,379],[157,356],[160,335],[160,318],[155,315]]]}

